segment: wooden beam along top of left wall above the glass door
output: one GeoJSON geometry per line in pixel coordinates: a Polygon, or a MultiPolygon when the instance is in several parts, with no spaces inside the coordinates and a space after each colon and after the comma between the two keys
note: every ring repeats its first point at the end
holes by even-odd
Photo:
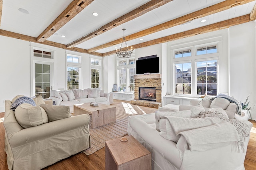
{"type": "Polygon", "coordinates": [[[36,37],[31,37],[31,36],[28,36],[28,35],[14,33],[14,32],[2,30],[2,29],[0,29],[0,35],[6,36],[6,37],[11,37],[11,38],[16,38],[16,39],[21,39],[21,40],[24,40],[24,41],[30,41],[30,42],[34,42],[34,43],[50,45],[52,47],[58,47],[58,48],[67,49],[67,50],[70,50],[70,51],[77,51],[77,52],[80,52],[80,53],[87,53],[87,54],[102,57],[102,53],[97,53],[97,52],[88,53],[86,49],[80,49],[80,48],[77,48],[77,47],[67,48],[66,45],[64,45],[64,44],[55,43],[55,42],[52,42],[52,41],[38,42],[38,41],[36,41],[36,37]]]}

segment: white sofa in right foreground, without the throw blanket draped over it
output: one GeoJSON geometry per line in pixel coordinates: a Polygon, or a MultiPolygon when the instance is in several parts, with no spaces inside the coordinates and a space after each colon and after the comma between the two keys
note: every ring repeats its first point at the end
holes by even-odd
{"type": "MultiPolygon", "coordinates": [[[[169,113],[175,114],[179,112],[183,112],[184,117],[189,117],[190,115],[189,111],[169,113]]],[[[130,116],[128,119],[128,135],[132,135],[151,152],[152,170],[244,170],[246,152],[241,151],[238,153],[232,144],[216,147],[216,149],[190,151],[188,142],[183,135],[180,135],[177,141],[162,137],[161,135],[164,132],[161,134],[161,127],[166,127],[167,121],[159,122],[159,115],[156,116],[157,113],[162,113],[162,115],[169,114],[167,112],[157,111],[156,113],[146,115],[130,116]],[[160,128],[159,131],[156,130],[157,126],[160,128]]],[[[164,120],[163,116],[160,117],[162,118],[160,120],[164,120]]],[[[172,117],[174,116],[169,116],[169,118],[172,117]]],[[[238,121],[234,119],[231,120],[238,121]]],[[[252,123],[249,121],[244,121],[244,123],[246,124],[246,131],[250,135],[252,123]]],[[[166,127],[166,131],[167,134],[168,131],[171,131],[170,126],[169,128],[166,127]]],[[[207,133],[202,135],[202,139],[204,138],[208,138],[207,133]]],[[[243,142],[245,150],[247,149],[248,141],[249,136],[247,136],[243,142]]]]}

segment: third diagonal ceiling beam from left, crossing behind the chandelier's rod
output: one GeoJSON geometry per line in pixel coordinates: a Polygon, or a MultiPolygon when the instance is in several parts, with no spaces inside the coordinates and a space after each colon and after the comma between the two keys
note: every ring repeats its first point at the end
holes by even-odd
{"type": "MultiPolygon", "coordinates": [[[[197,18],[202,18],[202,17],[208,16],[208,15],[211,15],[211,14],[215,14],[217,12],[228,10],[228,9],[234,7],[234,6],[243,5],[243,4],[252,2],[252,1],[254,1],[254,0],[240,0],[240,1],[238,1],[238,0],[225,0],[223,2],[220,2],[218,4],[209,6],[207,8],[202,9],[202,10],[192,12],[192,13],[187,14],[185,16],[182,16],[180,18],[176,18],[174,20],[167,21],[165,23],[156,25],[154,27],[145,29],[143,31],[139,31],[137,33],[128,35],[128,36],[125,37],[125,40],[130,41],[130,40],[133,40],[133,39],[136,39],[136,38],[140,38],[140,37],[143,37],[145,35],[156,33],[158,31],[162,31],[164,29],[168,29],[170,27],[174,27],[176,25],[186,23],[188,21],[192,21],[192,20],[197,19],[197,18]]],[[[104,49],[106,47],[110,47],[110,46],[113,46],[113,45],[116,45],[116,44],[119,44],[119,43],[122,43],[122,38],[116,39],[116,40],[111,41],[109,43],[100,45],[98,47],[88,49],[88,52],[90,53],[92,51],[97,51],[97,50],[100,50],[100,49],[104,49]]],[[[133,45],[130,45],[130,46],[133,46],[133,45]]]]}

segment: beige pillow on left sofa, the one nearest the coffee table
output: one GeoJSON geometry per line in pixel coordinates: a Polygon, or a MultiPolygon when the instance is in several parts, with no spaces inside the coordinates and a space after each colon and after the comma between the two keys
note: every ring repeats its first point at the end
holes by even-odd
{"type": "Polygon", "coordinates": [[[40,107],[42,107],[46,111],[49,122],[70,117],[69,106],[54,106],[41,104],[40,107]]]}

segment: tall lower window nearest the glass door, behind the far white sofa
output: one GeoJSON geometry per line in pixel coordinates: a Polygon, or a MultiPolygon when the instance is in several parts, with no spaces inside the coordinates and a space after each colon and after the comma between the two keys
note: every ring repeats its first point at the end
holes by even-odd
{"type": "Polygon", "coordinates": [[[79,88],[79,68],[68,66],[68,90],[79,88]]]}

